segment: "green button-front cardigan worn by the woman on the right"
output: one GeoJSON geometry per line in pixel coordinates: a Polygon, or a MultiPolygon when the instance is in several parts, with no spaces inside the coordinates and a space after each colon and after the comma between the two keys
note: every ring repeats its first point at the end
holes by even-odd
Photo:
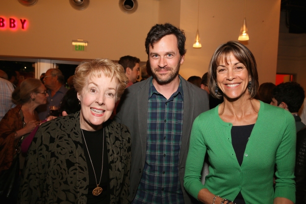
{"type": "Polygon", "coordinates": [[[207,188],[229,200],[234,200],[241,191],[246,203],[273,203],[275,197],[295,202],[296,134],[291,113],[260,101],[258,119],[240,166],[232,146],[233,124],[219,117],[218,107],[200,114],[193,122],[185,189],[195,198],[201,189],[207,188]],[[202,185],[201,170],[206,152],[210,167],[205,185],[202,185]]]}

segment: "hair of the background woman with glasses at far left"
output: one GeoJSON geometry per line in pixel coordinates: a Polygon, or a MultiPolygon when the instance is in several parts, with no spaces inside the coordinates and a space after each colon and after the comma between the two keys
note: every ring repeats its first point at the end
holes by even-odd
{"type": "Polygon", "coordinates": [[[21,82],[12,93],[13,103],[16,105],[23,105],[31,98],[31,93],[36,93],[42,85],[41,81],[34,78],[29,78],[21,82]]]}

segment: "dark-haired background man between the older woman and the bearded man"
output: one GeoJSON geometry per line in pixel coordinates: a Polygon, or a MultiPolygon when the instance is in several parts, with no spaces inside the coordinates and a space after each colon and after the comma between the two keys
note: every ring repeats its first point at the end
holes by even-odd
{"type": "Polygon", "coordinates": [[[126,88],[136,83],[137,79],[139,79],[139,62],[139,58],[129,55],[119,59],[118,64],[124,68],[125,75],[129,78],[129,83],[126,85],[126,88]]]}

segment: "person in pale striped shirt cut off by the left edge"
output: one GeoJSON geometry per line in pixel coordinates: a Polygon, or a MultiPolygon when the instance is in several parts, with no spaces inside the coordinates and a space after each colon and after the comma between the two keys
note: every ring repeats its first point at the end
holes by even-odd
{"type": "Polygon", "coordinates": [[[15,105],[12,101],[14,87],[9,81],[0,78],[0,120],[15,105]]]}

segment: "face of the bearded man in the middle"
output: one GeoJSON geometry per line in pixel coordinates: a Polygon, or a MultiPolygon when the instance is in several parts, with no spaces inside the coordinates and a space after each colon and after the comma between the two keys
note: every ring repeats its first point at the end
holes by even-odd
{"type": "Polygon", "coordinates": [[[166,35],[149,46],[149,61],[154,79],[159,84],[167,84],[179,77],[180,65],[184,57],[180,55],[177,39],[174,35],[166,35]]]}

